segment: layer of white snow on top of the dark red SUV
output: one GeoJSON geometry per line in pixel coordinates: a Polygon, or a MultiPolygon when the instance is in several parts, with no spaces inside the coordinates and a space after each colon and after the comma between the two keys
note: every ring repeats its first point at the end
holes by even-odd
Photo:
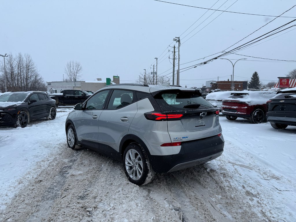
{"type": "Polygon", "coordinates": [[[249,105],[265,104],[267,100],[271,99],[276,94],[275,91],[246,91],[231,94],[231,100],[245,102],[249,105]],[[235,98],[233,95],[242,95],[242,98],[235,98]]]}

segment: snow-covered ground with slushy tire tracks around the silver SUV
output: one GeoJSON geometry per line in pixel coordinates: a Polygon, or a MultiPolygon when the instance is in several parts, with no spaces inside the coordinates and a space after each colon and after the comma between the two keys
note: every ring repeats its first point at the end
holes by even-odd
{"type": "Polygon", "coordinates": [[[67,147],[70,110],[0,128],[0,221],[296,221],[296,127],[220,115],[221,157],[139,187],[118,161],[67,147]]]}

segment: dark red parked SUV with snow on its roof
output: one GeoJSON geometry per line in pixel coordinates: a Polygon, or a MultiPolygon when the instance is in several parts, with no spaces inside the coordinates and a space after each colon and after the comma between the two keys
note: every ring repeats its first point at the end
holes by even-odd
{"type": "Polygon", "coordinates": [[[275,91],[233,92],[222,100],[222,113],[228,120],[241,117],[251,123],[262,123],[266,118],[266,102],[275,94],[275,91]]]}

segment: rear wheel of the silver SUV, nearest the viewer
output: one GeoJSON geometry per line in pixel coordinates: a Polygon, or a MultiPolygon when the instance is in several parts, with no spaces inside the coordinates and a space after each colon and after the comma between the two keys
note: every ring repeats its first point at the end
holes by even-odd
{"type": "Polygon", "coordinates": [[[136,143],[126,147],[123,153],[123,168],[128,180],[138,186],[150,183],[155,176],[147,154],[136,143]]]}

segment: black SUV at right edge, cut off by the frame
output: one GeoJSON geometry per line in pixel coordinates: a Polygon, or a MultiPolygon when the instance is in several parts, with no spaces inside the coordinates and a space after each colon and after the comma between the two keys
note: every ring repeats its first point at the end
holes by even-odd
{"type": "Polygon", "coordinates": [[[267,121],[275,129],[296,126],[296,87],[283,89],[267,101],[267,121]]]}

